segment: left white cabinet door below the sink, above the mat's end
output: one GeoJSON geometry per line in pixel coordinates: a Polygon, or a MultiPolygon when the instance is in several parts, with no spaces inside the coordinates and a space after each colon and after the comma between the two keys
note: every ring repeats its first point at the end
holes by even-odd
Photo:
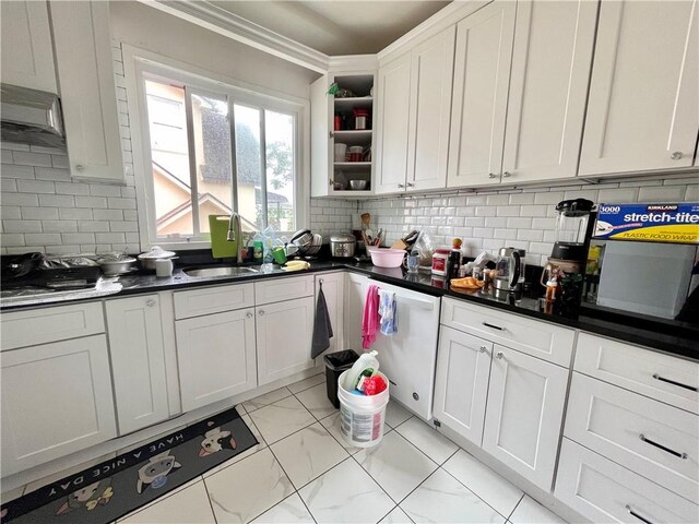
{"type": "Polygon", "coordinates": [[[175,322],[182,410],[257,386],[252,309],[175,322]]]}

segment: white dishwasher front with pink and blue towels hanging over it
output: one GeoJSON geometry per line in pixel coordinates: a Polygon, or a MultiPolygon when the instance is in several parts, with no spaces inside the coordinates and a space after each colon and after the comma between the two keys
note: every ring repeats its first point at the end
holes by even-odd
{"type": "Polygon", "coordinates": [[[390,396],[417,416],[433,416],[439,297],[369,279],[368,285],[393,291],[396,301],[398,333],[377,333],[371,349],[379,352],[381,371],[391,381],[390,396]]]}

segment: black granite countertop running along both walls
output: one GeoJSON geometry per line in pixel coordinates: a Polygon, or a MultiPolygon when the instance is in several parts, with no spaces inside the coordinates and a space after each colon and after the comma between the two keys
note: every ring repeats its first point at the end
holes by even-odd
{"type": "MultiPolygon", "coordinates": [[[[214,264],[212,264],[214,265],[214,264]]],[[[276,266],[275,266],[276,267],[276,266]]],[[[378,282],[398,285],[433,296],[449,296],[462,300],[472,301],[482,306],[493,307],[513,313],[520,313],[547,322],[554,322],[590,333],[595,333],[612,338],[647,346],[651,349],[668,353],[675,356],[699,360],[699,327],[692,325],[667,326],[653,324],[645,319],[641,320],[631,315],[606,315],[604,312],[582,308],[574,311],[566,311],[560,307],[548,309],[545,302],[537,296],[537,286],[521,297],[506,296],[496,298],[490,293],[464,293],[449,288],[448,281],[436,278],[429,273],[407,274],[400,267],[376,267],[371,263],[347,263],[342,260],[317,260],[311,262],[311,269],[300,272],[285,272],[275,269],[271,273],[247,273],[236,276],[192,277],[188,276],[181,267],[176,267],[173,276],[158,278],[154,274],[139,273],[121,276],[118,282],[121,290],[100,298],[122,297],[135,294],[156,291],[169,291],[201,286],[220,284],[239,284],[254,282],[263,278],[279,278],[299,276],[303,274],[318,273],[333,270],[347,270],[367,275],[378,282]]],[[[543,290],[543,289],[542,289],[543,290]]],[[[72,302],[72,301],[71,301],[72,302]]],[[[58,303],[36,303],[23,306],[4,306],[2,311],[29,309],[36,307],[50,307],[58,303]]]]}

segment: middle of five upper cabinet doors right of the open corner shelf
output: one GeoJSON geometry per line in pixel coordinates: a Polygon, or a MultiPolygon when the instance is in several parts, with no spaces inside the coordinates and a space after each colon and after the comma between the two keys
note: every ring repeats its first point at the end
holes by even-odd
{"type": "Polygon", "coordinates": [[[500,181],[516,9],[495,1],[457,25],[448,187],[500,181]]]}

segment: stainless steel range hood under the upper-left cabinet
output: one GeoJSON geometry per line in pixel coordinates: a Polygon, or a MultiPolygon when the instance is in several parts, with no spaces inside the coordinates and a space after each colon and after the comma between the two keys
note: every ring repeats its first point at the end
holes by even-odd
{"type": "Polygon", "coordinates": [[[58,95],[0,84],[0,131],[3,142],[66,147],[58,95]]]}

